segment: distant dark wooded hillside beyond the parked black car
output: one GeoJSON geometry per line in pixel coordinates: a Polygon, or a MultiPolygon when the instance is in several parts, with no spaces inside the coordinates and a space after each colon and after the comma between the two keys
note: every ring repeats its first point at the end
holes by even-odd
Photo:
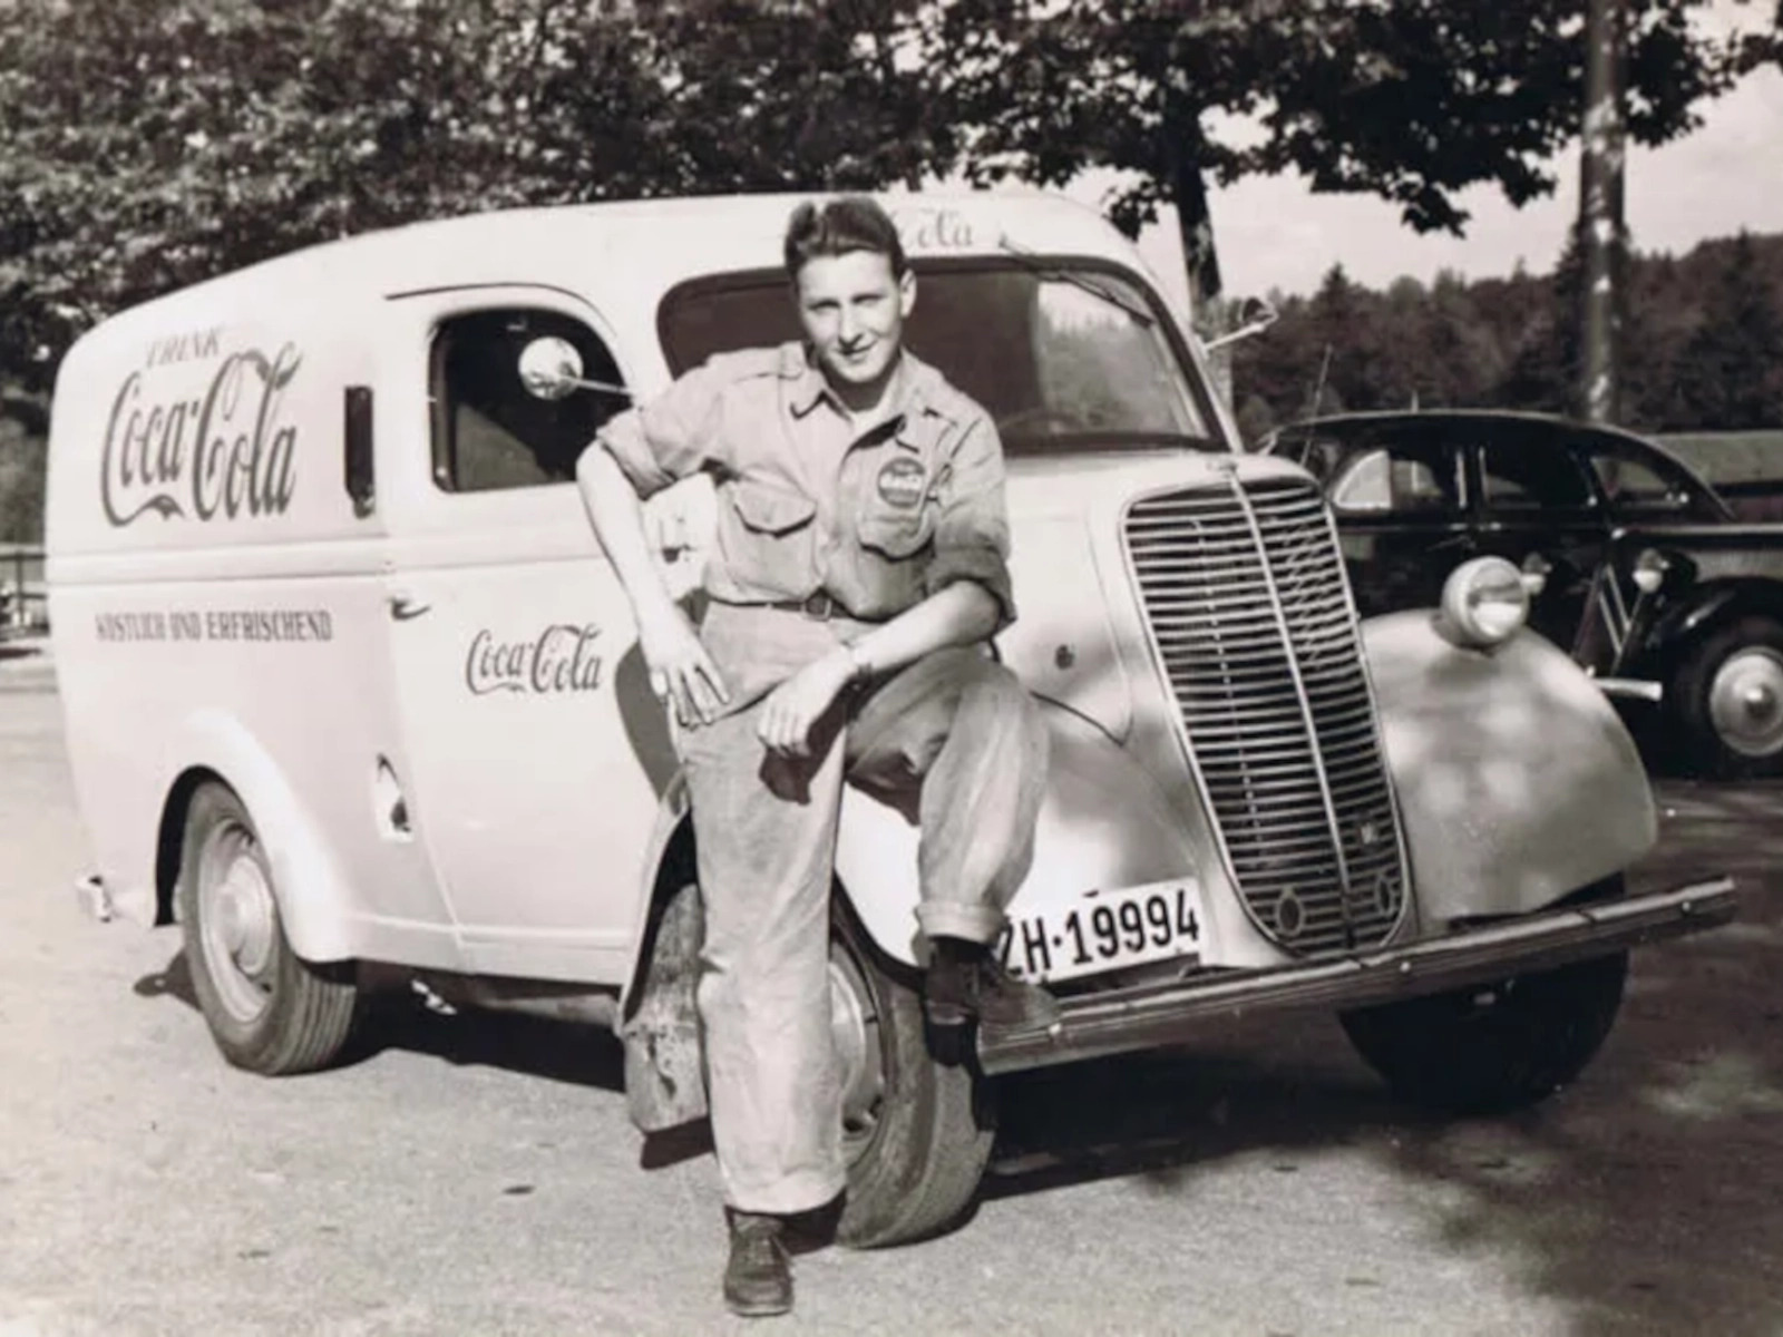
{"type": "MultiPolygon", "coordinates": [[[[1268,335],[1237,344],[1248,439],[1312,412],[1485,406],[1578,412],[1580,264],[1387,292],[1334,267],[1312,298],[1280,298],[1268,335]],[[1316,406],[1314,406],[1316,399],[1316,406]]],[[[1783,235],[1631,255],[1623,412],[1651,431],[1783,428],[1783,235]]]]}

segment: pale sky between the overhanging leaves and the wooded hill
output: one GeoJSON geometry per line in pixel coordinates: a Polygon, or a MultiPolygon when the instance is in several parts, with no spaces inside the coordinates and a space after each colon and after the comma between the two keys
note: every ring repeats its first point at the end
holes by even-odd
{"type": "MultiPolygon", "coordinates": [[[[1466,237],[1419,235],[1373,196],[1314,194],[1298,176],[1259,176],[1209,200],[1227,296],[1312,292],[1343,262],[1384,289],[1401,275],[1428,283],[1439,269],[1466,278],[1553,267],[1578,212],[1578,159],[1555,164],[1555,194],[1514,209],[1496,187],[1462,193],[1466,237]]],[[[1656,150],[1630,144],[1630,241],[1642,253],[1681,255],[1708,237],[1783,232],[1783,71],[1749,75],[1703,107],[1701,128],[1656,150]]]]}

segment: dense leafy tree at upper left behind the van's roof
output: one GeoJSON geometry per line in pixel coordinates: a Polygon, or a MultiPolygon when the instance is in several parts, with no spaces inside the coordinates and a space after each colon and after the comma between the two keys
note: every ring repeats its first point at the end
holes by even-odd
{"type": "Polygon", "coordinates": [[[442,214],[945,171],[920,5],[0,4],[0,385],[98,317],[442,214]]]}

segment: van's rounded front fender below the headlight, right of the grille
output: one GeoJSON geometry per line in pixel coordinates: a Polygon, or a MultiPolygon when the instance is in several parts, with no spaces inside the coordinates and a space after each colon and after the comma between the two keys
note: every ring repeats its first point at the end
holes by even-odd
{"type": "Polygon", "coordinates": [[[1366,620],[1362,647],[1426,925],[1528,913],[1653,847],[1633,740],[1549,642],[1466,651],[1416,611],[1366,620]]]}

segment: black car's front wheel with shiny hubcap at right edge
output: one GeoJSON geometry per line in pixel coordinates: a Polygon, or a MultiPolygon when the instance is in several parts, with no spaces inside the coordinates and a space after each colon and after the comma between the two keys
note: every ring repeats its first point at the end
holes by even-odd
{"type": "Polygon", "coordinates": [[[1680,759],[1705,775],[1783,775],[1783,622],[1749,613],[1705,635],[1671,681],[1680,759]]]}

